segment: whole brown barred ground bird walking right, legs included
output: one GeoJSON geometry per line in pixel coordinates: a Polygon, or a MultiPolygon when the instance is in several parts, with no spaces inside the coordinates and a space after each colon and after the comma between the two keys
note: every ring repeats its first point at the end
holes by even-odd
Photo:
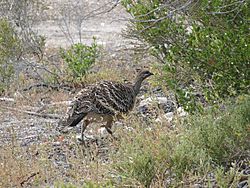
{"type": "Polygon", "coordinates": [[[62,126],[74,127],[83,121],[80,140],[84,141],[84,131],[89,124],[105,122],[105,129],[113,136],[113,122],[123,119],[123,114],[133,109],[143,80],[151,75],[150,71],[142,70],[134,82],[101,81],[84,87],[74,97],[66,118],[61,122],[62,126]]]}

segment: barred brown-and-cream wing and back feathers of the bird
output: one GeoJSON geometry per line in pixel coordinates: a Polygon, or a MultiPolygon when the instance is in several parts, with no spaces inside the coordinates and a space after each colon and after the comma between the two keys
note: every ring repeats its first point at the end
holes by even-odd
{"type": "Polygon", "coordinates": [[[132,110],[135,103],[132,85],[103,81],[82,89],[75,97],[69,116],[83,113],[116,115],[132,110]]]}

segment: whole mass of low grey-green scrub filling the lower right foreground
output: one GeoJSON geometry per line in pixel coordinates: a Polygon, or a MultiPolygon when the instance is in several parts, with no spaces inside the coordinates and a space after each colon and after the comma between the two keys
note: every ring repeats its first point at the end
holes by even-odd
{"type": "Polygon", "coordinates": [[[221,187],[228,187],[232,179],[236,187],[239,164],[249,160],[249,114],[250,97],[244,96],[222,109],[178,118],[170,129],[151,125],[148,130],[133,122],[134,132],[122,136],[113,160],[114,173],[123,180],[114,185],[193,187],[200,182],[209,187],[209,178],[202,181],[213,174],[221,187]]]}

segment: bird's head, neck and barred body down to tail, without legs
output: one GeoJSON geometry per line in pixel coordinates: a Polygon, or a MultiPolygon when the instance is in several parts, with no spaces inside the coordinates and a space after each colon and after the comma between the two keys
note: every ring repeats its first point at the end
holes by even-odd
{"type": "Polygon", "coordinates": [[[88,113],[116,116],[134,107],[142,81],[152,75],[140,73],[134,84],[102,81],[83,88],[74,98],[67,112],[64,126],[76,126],[88,113]]]}

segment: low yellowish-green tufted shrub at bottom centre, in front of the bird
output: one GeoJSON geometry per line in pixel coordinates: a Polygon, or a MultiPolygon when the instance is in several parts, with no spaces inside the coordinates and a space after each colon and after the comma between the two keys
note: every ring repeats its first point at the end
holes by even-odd
{"type": "Polygon", "coordinates": [[[144,125],[138,123],[133,122],[136,131],[123,136],[114,156],[114,173],[122,180],[117,186],[152,187],[157,182],[155,186],[162,187],[171,151],[169,138],[159,127],[154,131],[143,130],[144,125]]]}

